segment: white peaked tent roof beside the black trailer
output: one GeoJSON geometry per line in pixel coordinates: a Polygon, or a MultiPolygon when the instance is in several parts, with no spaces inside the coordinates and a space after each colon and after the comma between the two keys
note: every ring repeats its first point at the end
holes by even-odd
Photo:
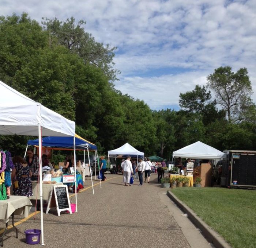
{"type": "Polygon", "coordinates": [[[223,155],[223,152],[200,141],[173,152],[175,158],[220,159],[223,155]]]}

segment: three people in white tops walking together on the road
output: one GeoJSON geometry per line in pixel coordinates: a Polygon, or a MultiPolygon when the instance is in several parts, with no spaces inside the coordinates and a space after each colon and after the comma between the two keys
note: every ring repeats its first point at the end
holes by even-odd
{"type": "Polygon", "coordinates": [[[136,165],[136,161],[134,160],[133,162],[131,162],[131,156],[127,156],[127,159],[121,163],[121,168],[124,172],[124,177],[123,177],[124,185],[131,186],[130,184],[131,176],[136,173],[136,170],[138,171],[138,176],[140,181],[139,186],[142,186],[143,184],[143,173],[144,173],[144,182],[150,183],[151,167],[152,167],[152,163],[149,158],[146,160],[146,162],[143,161],[142,158],[140,158],[139,163],[136,165]]]}

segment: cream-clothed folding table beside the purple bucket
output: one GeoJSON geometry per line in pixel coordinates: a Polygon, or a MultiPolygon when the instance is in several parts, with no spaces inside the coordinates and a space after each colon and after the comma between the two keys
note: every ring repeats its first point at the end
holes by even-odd
{"type": "Polygon", "coordinates": [[[4,235],[8,227],[8,221],[12,216],[12,226],[16,229],[16,238],[18,239],[18,229],[14,226],[14,214],[22,215],[25,218],[29,215],[32,203],[27,196],[10,195],[6,200],[0,200],[0,220],[5,221],[5,229],[0,236],[1,246],[4,245],[4,235]]]}

